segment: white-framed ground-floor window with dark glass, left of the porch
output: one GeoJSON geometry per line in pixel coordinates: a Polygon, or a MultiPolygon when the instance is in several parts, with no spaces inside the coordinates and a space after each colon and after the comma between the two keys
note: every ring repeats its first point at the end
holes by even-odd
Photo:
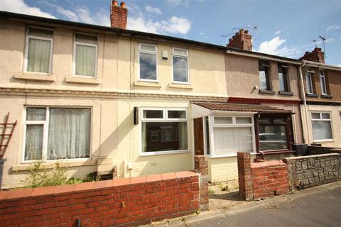
{"type": "Polygon", "coordinates": [[[141,108],[141,155],[188,150],[187,109],[141,108]]]}

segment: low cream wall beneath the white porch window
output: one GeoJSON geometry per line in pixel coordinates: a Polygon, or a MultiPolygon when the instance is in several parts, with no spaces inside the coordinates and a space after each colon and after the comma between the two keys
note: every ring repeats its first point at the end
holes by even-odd
{"type": "MultiPolygon", "coordinates": [[[[251,155],[251,162],[254,158],[256,155],[251,155]]],[[[208,179],[210,182],[227,182],[238,179],[237,156],[209,157],[208,179]]]]}

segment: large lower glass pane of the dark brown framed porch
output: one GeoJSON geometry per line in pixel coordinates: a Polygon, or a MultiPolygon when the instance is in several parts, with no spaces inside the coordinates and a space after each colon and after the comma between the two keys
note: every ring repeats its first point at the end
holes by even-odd
{"type": "Polygon", "coordinates": [[[286,149],[286,126],[259,126],[260,150],[286,149]]]}

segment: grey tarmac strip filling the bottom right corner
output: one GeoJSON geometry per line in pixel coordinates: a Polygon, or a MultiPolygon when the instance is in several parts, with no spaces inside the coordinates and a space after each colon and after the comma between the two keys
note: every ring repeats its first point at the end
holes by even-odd
{"type": "Polygon", "coordinates": [[[186,226],[341,226],[341,187],[298,198],[288,196],[288,199],[283,201],[262,204],[251,210],[190,223],[186,226]]]}

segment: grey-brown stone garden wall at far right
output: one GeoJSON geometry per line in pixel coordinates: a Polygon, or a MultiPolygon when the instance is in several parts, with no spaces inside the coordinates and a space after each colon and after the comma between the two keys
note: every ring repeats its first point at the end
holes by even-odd
{"type": "Polygon", "coordinates": [[[341,180],[341,154],[283,158],[288,165],[291,190],[306,189],[341,180]]]}

